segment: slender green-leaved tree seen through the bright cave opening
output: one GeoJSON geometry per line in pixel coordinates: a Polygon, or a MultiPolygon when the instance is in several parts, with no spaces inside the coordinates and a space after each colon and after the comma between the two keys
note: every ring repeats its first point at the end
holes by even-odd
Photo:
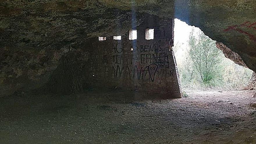
{"type": "Polygon", "coordinates": [[[189,56],[193,62],[193,70],[197,74],[197,81],[208,84],[218,73],[217,67],[221,63],[221,50],[216,48],[215,41],[211,40],[202,31],[194,34],[192,29],[189,35],[189,56]]]}

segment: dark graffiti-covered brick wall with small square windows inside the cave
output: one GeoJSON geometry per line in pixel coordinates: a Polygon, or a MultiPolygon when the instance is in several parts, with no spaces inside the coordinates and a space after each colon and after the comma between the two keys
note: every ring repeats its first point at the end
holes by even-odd
{"type": "Polygon", "coordinates": [[[129,40],[129,31],[121,40],[113,37],[92,40],[90,81],[98,86],[158,93],[181,97],[173,46],[173,19],[148,17],[137,29],[137,40],[129,40]],[[146,40],[146,29],[154,29],[154,39],[146,40]],[[133,50],[131,50],[131,48],[133,50]]]}

